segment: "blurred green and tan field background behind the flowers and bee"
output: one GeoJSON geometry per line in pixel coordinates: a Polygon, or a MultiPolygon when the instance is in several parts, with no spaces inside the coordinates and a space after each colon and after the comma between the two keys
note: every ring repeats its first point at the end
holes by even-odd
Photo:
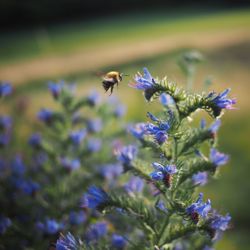
{"type": "MultiPolygon", "coordinates": [[[[12,5],[2,7],[18,9],[15,1],[10,2],[12,5]]],[[[205,61],[198,66],[195,90],[202,90],[204,80],[210,77],[210,90],[232,88],[238,108],[226,112],[219,134],[221,151],[231,155],[230,163],[204,190],[220,212],[229,211],[233,217],[232,229],[216,249],[250,249],[250,7],[177,8],[175,3],[170,8],[172,2],[158,9],[142,9],[143,2],[138,1],[134,9],[130,1],[126,11],[121,11],[122,7],[116,11],[117,6],[111,8],[110,3],[99,6],[93,16],[92,12],[82,13],[82,18],[79,11],[76,19],[72,13],[60,16],[58,12],[56,21],[42,12],[40,19],[35,19],[31,8],[30,19],[11,20],[0,29],[0,79],[11,81],[15,93],[0,110],[15,112],[21,131],[16,147],[21,147],[38,109],[53,105],[47,93],[48,80],[77,82],[79,95],[92,88],[103,93],[97,75],[119,70],[130,74],[114,93],[128,106],[126,119],[145,120],[146,111],[153,111],[156,105],[146,104],[139,91],[127,86],[132,76],[146,66],[153,76],[167,75],[184,85],[176,62],[184,51],[198,49],[205,61]]],[[[46,8],[45,13],[53,12],[46,8]]]]}

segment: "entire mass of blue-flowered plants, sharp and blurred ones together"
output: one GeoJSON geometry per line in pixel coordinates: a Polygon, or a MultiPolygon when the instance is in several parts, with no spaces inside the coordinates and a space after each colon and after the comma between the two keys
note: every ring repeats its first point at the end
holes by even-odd
{"type": "MultiPolygon", "coordinates": [[[[16,235],[23,249],[209,249],[230,228],[229,214],[220,215],[203,193],[197,198],[229,160],[217,148],[218,116],[235,104],[229,90],[192,94],[146,68],[130,86],[159,100],[162,110],[148,112],[150,121],[124,126],[126,108],[117,99],[102,103],[96,92],[78,98],[75,85],[49,83],[59,108],[42,108],[37,118],[45,126],[28,147],[0,157],[4,247],[14,249],[16,235]],[[211,125],[190,122],[198,109],[214,118],[211,125]],[[20,225],[27,229],[21,234],[20,225]]],[[[0,84],[0,97],[11,91],[0,84]]],[[[12,126],[0,116],[0,150],[10,146],[12,126]]]]}

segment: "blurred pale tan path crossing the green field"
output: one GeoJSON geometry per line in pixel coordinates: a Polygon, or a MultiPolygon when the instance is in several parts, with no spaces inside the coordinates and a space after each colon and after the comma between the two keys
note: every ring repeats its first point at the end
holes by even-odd
{"type": "Polygon", "coordinates": [[[182,47],[212,49],[230,46],[246,40],[250,41],[250,32],[245,28],[241,28],[215,32],[189,32],[172,36],[166,35],[156,39],[149,37],[136,42],[123,41],[115,45],[100,45],[71,54],[50,56],[2,66],[0,79],[8,79],[17,85],[40,78],[54,78],[79,71],[96,70],[107,65],[124,64],[132,60],[182,47]]]}

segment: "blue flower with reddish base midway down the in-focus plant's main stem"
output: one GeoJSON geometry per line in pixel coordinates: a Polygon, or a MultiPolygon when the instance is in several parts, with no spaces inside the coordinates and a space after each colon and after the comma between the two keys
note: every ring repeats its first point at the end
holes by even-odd
{"type": "Polygon", "coordinates": [[[150,177],[155,181],[163,181],[163,183],[170,187],[171,184],[171,176],[177,173],[177,169],[175,165],[166,165],[163,166],[160,163],[154,162],[152,163],[155,171],[150,174],[150,177]]]}

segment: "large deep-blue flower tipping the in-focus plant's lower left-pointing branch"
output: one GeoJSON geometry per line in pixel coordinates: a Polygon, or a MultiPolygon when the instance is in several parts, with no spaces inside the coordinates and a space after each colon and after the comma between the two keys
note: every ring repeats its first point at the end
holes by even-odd
{"type": "Polygon", "coordinates": [[[87,193],[83,196],[81,206],[98,209],[107,202],[109,202],[109,196],[103,189],[90,186],[87,193]]]}

